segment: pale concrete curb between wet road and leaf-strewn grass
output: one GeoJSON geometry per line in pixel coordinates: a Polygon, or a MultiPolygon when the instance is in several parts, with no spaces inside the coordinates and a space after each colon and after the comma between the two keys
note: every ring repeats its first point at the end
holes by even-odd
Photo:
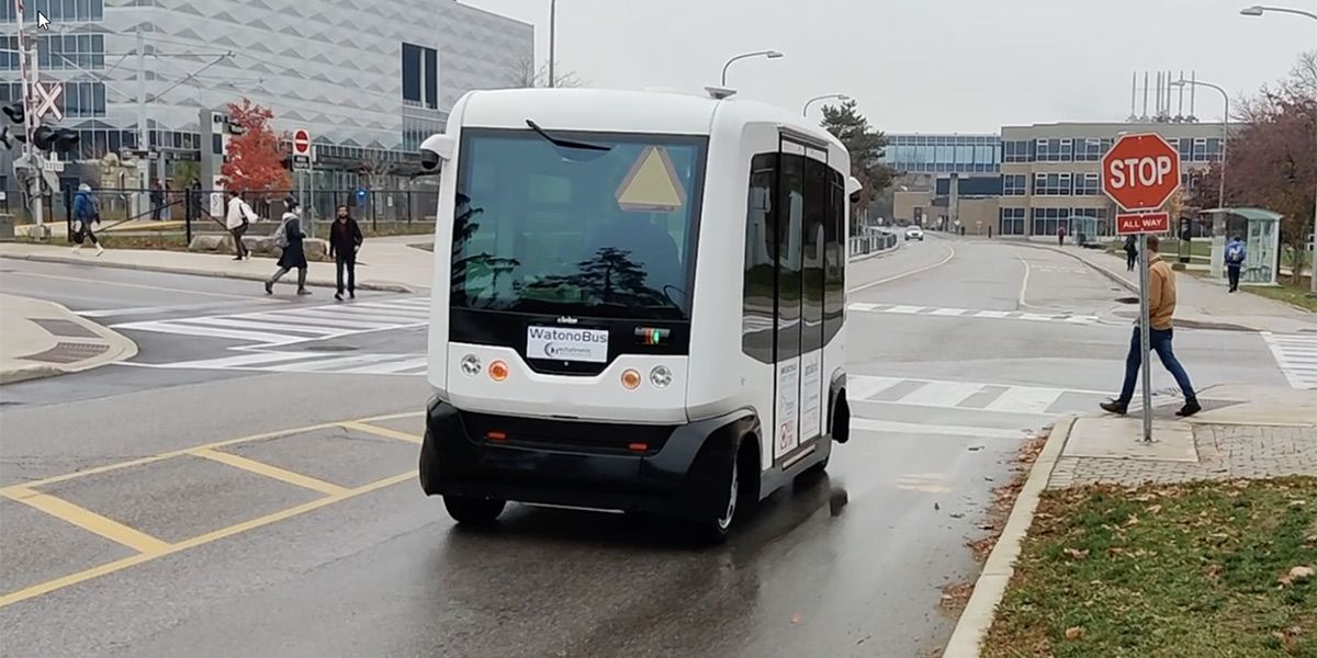
{"type": "Polygon", "coordinates": [[[969,603],[956,628],[947,642],[943,658],[979,658],[979,647],[984,636],[992,628],[997,615],[997,604],[1006,595],[1006,586],[1015,574],[1015,559],[1019,557],[1021,542],[1029,534],[1029,526],[1034,521],[1034,511],[1038,509],[1038,500],[1047,480],[1052,476],[1052,468],[1062,455],[1062,447],[1069,440],[1071,429],[1075,426],[1075,416],[1065,416],[1056,421],[1047,445],[1039,453],[1038,461],[1029,471],[1029,479],[1015,499],[1015,505],[1006,520],[997,545],[993,546],[988,562],[984,565],[979,580],[975,582],[975,592],[969,596],[969,603]]]}

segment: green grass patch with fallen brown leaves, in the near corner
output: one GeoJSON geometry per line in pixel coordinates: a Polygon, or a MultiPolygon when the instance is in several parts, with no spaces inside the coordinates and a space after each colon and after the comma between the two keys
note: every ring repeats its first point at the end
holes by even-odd
{"type": "Polygon", "coordinates": [[[1317,567],[1314,478],[1047,492],[982,655],[1314,658],[1295,566],[1317,567]]]}

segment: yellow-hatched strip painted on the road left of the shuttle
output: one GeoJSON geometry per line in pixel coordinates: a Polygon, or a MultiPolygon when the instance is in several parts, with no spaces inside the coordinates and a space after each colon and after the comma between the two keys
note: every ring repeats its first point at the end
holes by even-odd
{"type": "Polygon", "coordinates": [[[0,608],[411,480],[423,432],[352,418],[0,488],[0,608]]]}

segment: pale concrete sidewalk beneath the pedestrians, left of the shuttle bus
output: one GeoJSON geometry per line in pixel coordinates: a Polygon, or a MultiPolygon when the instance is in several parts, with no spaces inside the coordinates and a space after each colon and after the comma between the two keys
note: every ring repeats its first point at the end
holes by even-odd
{"type": "MultiPolygon", "coordinates": [[[[403,236],[367,240],[357,255],[357,288],[386,292],[417,292],[431,287],[433,259],[429,251],[411,247],[429,243],[428,236],[403,236]]],[[[158,272],[221,276],[261,282],[274,274],[277,265],[270,258],[234,261],[232,255],[194,254],[188,251],[150,251],[144,249],[113,249],[97,257],[94,250],[72,253],[63,245],[0,243],[0,257],[49,263],[78,263],[100,267],[120,267],[158,272]]],[[[336,286],[335,263],[309,263],[307,284],[336,286]]],[[[290,275],[291,276],[291,275],[290,275]]],[[[284,282],[290,280],[284,276],[284,282]]],[[[254,286],[259,290],[259,286],[254,286]]]]}

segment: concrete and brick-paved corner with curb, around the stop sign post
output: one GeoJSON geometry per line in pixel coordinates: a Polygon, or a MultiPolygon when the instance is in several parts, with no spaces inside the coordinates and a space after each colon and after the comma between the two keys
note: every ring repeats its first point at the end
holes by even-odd
{"type": "Polygon", "coordinates": [[[1317,475],[1317,391],[1223,384],[1198,397],[1205,411],[1188,420],[1173,416],[1175,404],[1155,407],[1152,443],[1142,441],[1137,415],[1056,425],[975,583],[944,658],[980,655],[1043,490],[1317,475]]]}

